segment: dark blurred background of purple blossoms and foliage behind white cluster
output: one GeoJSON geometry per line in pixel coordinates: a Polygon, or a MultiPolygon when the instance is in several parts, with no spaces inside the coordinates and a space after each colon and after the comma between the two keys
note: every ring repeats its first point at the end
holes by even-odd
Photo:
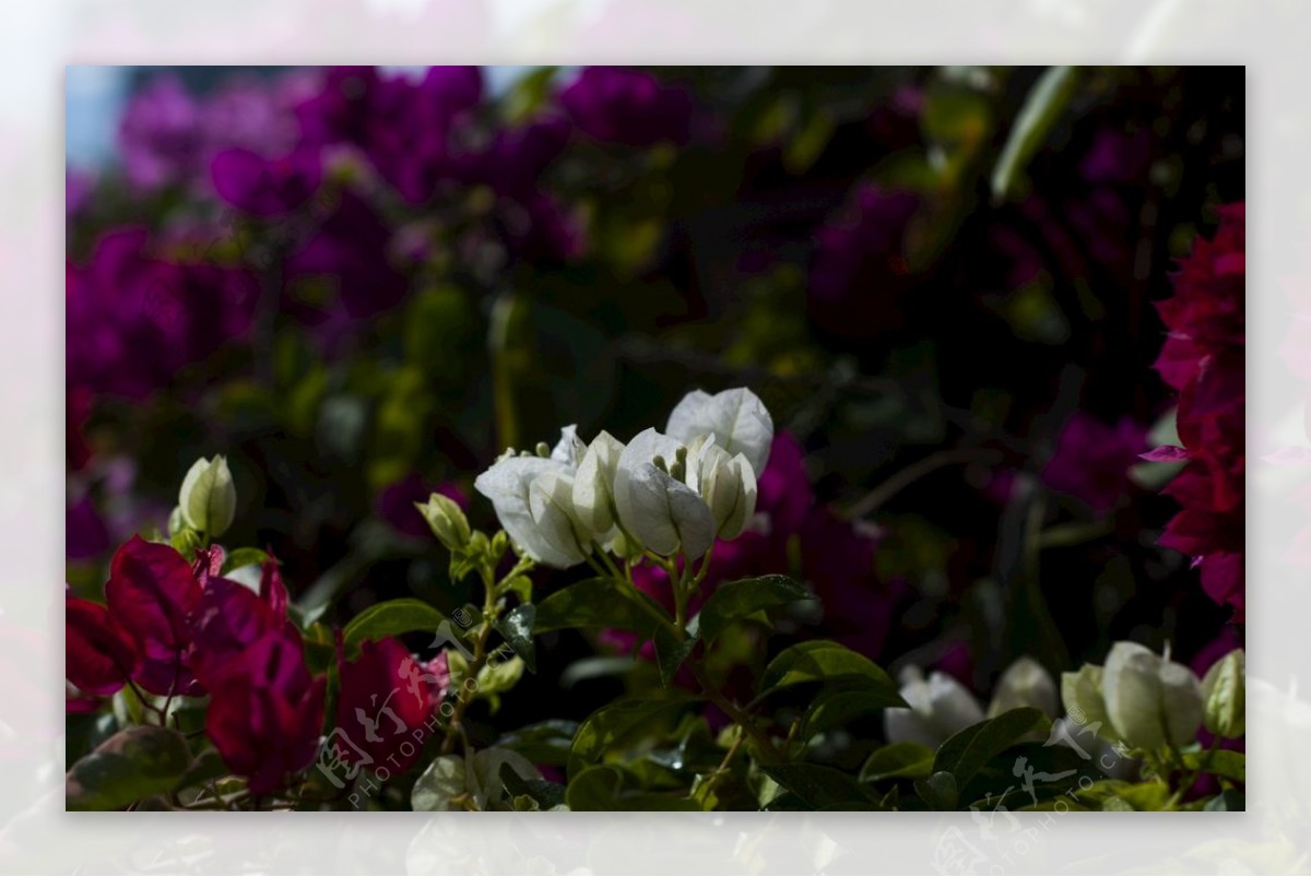
{"type": "MultiPolygon", "coordinates": [[[[749,385],[804,447],[817,505],[873,540],[847,599],[884,616],[852,644],[885,666],[985,690],[1020,654],[1054,671],[1121,638],[1188,655],[1222,629],[1155,544],[1168,464],[1135,464],[1171,422],[1152,303],[1244,195],[1242,68],[604,75],[482,71],[442,132],[481,169],[434,170],[396,159],[423,155],[422,71],[132,73],[117,148],[69,169],[75,591],[97,594],[113,547],[163,528],[190,461],[223,452],[225,541],[271,549],[302,610],[451,611],[468,595],[413,499],[468,497],[497,452],[564,423],[628,438],[688,389],[749,385]],[[299,203],[220,191],[210,159],[233,146],[298,180],[232,119],[299,149],[315,118],[346,134],[311,144],[299,203]],[[128,228],[134,254],[109,254],[128,228]],[[178,324],[178,357],[111,379],[178,324]],[[97,359],[88,326],[123,350],[97,359]]],[[[569,697],[524,684],[498,725],[582,717],[633,684],[578,669],[595,649],[577,633],[544,645],[538,676],[564,674],[569,697]]]]}

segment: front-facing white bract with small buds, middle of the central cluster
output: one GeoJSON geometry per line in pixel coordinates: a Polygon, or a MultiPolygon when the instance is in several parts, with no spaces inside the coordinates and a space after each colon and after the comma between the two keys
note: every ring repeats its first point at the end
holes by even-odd
{"type": "Polygon", "coordinates": [[[615,468],[615,509],[624,528],[657,555],[701,557],[714,543],[711,507],[687,484],[696,459],[684,443],[654,429],[637,434],[615,468]]]}

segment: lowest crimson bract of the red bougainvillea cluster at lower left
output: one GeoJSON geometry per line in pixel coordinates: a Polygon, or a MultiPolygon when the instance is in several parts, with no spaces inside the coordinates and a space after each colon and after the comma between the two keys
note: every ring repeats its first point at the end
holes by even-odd
{"type": "Polygon", "coordinates": [[[248,645],[214,680],[206,733],[227,766],[248,777],[253,794],[278,789],[313,760],[324,688],[323,676],[311,676],[291,628],[248,645]]]}

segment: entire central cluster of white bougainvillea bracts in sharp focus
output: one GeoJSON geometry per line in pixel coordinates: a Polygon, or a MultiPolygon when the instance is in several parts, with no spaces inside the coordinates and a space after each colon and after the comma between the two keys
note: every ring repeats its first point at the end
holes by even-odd
{"type": "Polygon", "coordinates": [[[473,486],[523,553],[548,566],[581,564],[597,547],[696,560],[751,522],[772,442],[773,421],[751,391],[695,391],[663,433],[624,444],[602,431],[586,444],[566,426],[549,452],[507,450],[473,486]]]}

